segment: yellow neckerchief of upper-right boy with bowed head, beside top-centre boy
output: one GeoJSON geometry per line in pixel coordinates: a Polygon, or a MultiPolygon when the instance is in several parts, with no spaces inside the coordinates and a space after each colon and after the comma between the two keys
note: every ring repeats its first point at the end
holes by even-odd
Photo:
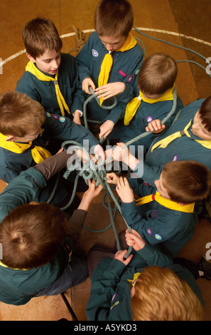
{"type": "Polygon", "coordinates": [[[141,101],[143,100],[145,103],[158,103],[160,101],[166,101],[166,100],[173,100],[173,90],[175,88],[175,84],[173,87],[169,88],[166,92],[162,94],[157,99],[151,99],[151,98],[144,98],[144,95],[141,91],[139,91],[139,96],[136,98],[133,98],[127,103],[126,105],[126,111],[124,115],[124,125],[129,125],[132,118],[134,118],[134,115],[136,114],[136,111],[138,110],[139,106],[141,105],[141,101]]]}

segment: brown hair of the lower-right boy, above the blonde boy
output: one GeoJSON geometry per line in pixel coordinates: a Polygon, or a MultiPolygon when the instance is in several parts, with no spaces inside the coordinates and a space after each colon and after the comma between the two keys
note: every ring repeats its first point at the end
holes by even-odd
{"type": "Polygon", "coordinates": [[[193,160],[166,163],[162,177],[164,187],[174,202],[190,204],[205,199],[210,190],[210,169],[193,160]]]}

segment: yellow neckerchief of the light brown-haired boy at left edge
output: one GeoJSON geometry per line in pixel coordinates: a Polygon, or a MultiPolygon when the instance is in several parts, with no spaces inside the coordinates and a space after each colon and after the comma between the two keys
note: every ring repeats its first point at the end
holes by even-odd
{"type": "MultiPolygon", "coordinates": [[[[24,153],[27,149],[31,147],[32,141],[28,143],[17,143],[6,140],[7,136],[0,133],[0,147],[6,150],[11,151],[12,153],[24,153]]],[[[31,155],[33,160],[39,164],[43,162],[46,158],[50,157],[51,154],[48,150],[35,145],[33,149],[31,149],[31,155]]]]}

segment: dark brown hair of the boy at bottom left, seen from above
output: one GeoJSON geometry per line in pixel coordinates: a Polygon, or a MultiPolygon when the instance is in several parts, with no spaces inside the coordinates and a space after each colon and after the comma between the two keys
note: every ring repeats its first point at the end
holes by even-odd
{"type": "Polygon", "coordinates": [[[13,269],[31,269],[50,262],[66,236],[62,210],[47,203],[21,205],[0,225],[2,262],[13,269]]]}

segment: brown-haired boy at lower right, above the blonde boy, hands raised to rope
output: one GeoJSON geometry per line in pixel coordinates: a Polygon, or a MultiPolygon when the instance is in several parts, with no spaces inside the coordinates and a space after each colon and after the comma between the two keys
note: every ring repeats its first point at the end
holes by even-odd
{"type": "Polygon", "coordinates": [[[156,187],[113,172],[107,177],[107,182],[117,185],[127,224],[153,247],[174,258],[194,236],[195,202],[209,193],[210,170],[194,161],[169,162],[155,181],[156,187]],[[134,200],[134,195],[140,198],[134,200]]]}

